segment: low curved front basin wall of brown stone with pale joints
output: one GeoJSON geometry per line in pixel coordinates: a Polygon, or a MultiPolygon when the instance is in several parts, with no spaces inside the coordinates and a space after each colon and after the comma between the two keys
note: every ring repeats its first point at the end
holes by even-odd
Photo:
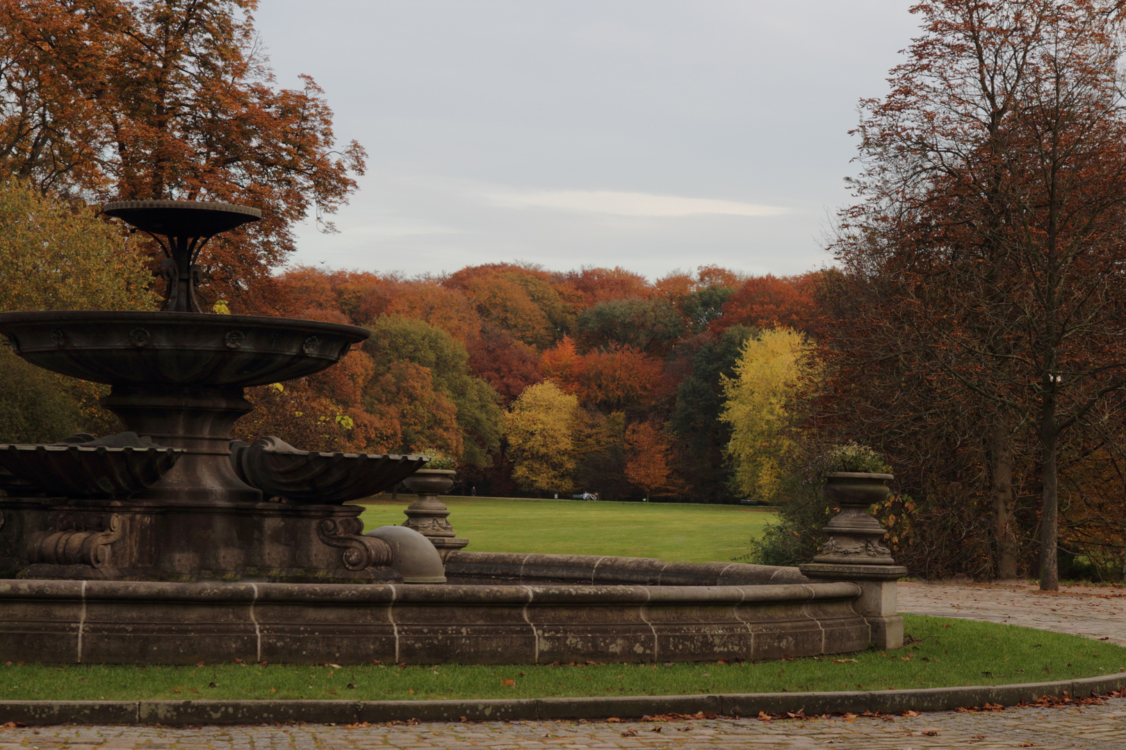
{"type": "MultiPolygon", "coordinates": [[[[602,559],[598,567],[616,564],[629,569],[637,561],[602,559]]],[[[0,661],[565,663],[799,657],[868,647],[872,627],[854,606],[859,596],[860,587],[851,582],[7,579],[0,580],[0,661]]]]}

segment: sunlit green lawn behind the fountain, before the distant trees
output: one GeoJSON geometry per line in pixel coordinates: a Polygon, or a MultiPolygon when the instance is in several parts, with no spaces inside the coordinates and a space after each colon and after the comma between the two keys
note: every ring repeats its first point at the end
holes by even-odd
{"type": "MultiPolygon", "coordinates": [[[[774,518],[767,508],[581,500],[447,497],[449,522],[477,552],[540,552],[661,558],[679,562],[729,561],[774,518]]],[[[401,524],[411,501],[367,503],[367,531],[401,524]]]]}

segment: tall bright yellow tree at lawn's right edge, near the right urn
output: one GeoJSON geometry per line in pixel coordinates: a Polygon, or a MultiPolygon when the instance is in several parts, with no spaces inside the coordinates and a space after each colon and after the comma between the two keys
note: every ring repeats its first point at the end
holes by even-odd
{"type": "Polygon", "coordinates": [[[726,400],[720,418],[731,425],[725,453],[732,489],[743,497],[770,501],[778,493],[783,457],[793,446],[787,406],[812,367],[810,352],[804,334],[768,328],[743,344],[733,378],[721,374],[726,400]]]}

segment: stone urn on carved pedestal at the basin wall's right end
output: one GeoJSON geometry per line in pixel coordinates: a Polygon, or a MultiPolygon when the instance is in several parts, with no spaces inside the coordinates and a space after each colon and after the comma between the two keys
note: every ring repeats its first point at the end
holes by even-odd
{"type": "Polygon", "coordinates": [[[884,545],[884,527],[868,512],[891,490],[892,475],[839,471],[825,475],[821,494],[837,514],[822,530],[829,539],[813,562],[801,566],[807,578],[821,581],[850,581],[860,587],[857,614],[872,627],[872,644],[879,649],[903,647],[903,617],[895,605],[895,582],[908,569],[895,563],[884,545]]]}

